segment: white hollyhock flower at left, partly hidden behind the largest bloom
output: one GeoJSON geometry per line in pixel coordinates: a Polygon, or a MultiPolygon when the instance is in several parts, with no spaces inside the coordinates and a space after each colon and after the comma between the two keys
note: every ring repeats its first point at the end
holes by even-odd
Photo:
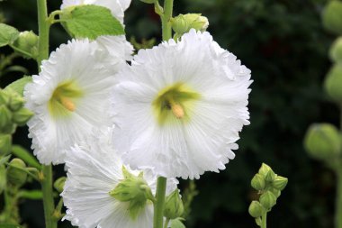
{"type": "MultiPolygon", "coordinates": [[[[112,58],[112,57],[111,57],[112,58]]],[[[69,41],[44,60],[25,87],[32,149],[40,163],[62,163],[66,150],[94,127],[111,126],[109,91],[118,68],[103,65],[108,53],[95,41],[69,41]]]]}

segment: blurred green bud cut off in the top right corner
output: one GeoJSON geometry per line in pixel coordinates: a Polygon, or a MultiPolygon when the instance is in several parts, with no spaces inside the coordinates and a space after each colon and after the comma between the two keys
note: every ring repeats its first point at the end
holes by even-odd
{"type": "Polygon", "coordinates": [[[336,34],[342,34],[342,2],[330,1],[323,10],[323,26],[336,34]]]}

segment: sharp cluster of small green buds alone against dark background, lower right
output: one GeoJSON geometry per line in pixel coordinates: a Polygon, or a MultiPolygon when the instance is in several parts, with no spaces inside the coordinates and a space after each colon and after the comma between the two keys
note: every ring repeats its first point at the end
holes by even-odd
{"type": "Polygon", "coordinates": [[[271,211],[287,182],[287,178],[276,175],[269,166],[262,164],[251,181],[251,186],[258,191],[260,197],[258,201],[252,201],[248,208],[249,214],[256,218],[257,223],[263,214],[271,211]]]}

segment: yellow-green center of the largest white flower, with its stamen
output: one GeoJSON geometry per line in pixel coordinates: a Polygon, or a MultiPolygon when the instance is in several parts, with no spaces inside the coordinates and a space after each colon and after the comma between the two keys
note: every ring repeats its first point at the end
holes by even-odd
{"type": "Polygon", "coordinates": [[[175,119],[188,120],[193,102],[200,97],[200,94],[180,82],[162,89],[152,102],[157,122],[163,125],[175,119]]]}

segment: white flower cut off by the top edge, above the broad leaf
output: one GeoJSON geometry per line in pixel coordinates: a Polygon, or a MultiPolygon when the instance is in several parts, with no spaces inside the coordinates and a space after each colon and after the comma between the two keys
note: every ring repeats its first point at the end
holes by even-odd
{"type": "Polygon", "coordinates": [[[123,12],[130,6],[130,0],[63,0],[60,9],[76,5],[100,5],[111,10],[112,15],[123,23],[123,12]]]}

